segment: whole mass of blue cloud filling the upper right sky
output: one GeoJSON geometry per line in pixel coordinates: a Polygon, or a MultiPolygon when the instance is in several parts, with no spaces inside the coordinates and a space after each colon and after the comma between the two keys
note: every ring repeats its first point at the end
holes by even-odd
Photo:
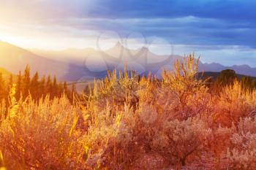
{"type": "Polygon", "coordinates": [[[69,17],[78,18],[73,26],[80,28],[137,31],[178,44],[255,47],[253,0],[97,0],[90,7],[88,1],[64,2],[77,7],[69,17]]]}

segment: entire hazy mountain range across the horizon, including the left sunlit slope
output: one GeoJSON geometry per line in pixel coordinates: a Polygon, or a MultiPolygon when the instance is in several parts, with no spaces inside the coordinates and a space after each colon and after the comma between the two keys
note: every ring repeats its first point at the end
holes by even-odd
{"type": "MultiPolygon", "coordinates": [[[[62,51],[26,50],[7,42],[0,42],[0,67],[18,74],[26,65],[31,73],[56,75],[59,80],[83,81],[105,77],[106,69],[121,69],[127,64],[129,69],[139,73],[160,75],[162,68],[172,69],[179,55],[157,55],[146,47],[130,50],[117,43],[109,50],[68,49],[62,51]]],[[[199,72],[221,72],[233,69],[237,74],[256,77],[256,68],[247,65],[223,66],[220,63],[199,63],[199,72]]]]}

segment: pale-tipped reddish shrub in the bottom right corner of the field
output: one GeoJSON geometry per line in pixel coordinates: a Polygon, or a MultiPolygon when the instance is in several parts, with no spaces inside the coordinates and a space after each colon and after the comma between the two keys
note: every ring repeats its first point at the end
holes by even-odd
{"type": "Polygon", "coordinates": [[[255,119],[241,119],[230,141],[227,152],[222,155],[222,169],[256,169],[255,119]]]}

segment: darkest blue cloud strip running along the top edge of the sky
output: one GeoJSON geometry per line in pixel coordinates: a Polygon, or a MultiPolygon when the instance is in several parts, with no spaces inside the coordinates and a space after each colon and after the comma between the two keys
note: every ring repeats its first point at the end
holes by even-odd
{"type": "Polygon", "coordinates": [[[101,0],[105,10],[93,9],[91,15],[106,18],[199,18],[255,20],[253,0],[101,0]]]}

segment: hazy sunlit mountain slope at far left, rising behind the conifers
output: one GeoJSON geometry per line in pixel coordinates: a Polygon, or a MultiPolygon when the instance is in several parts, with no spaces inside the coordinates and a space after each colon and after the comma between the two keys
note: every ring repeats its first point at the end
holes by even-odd
{"type": "Polygon", "coordinates": [[[31,74],[51,74],[59,79],[64,79],[71,67],[70,64],[44,58],[7,42],[0,42],[0,67],[18,74],[27,65],[30,66],[31,74]]]}

